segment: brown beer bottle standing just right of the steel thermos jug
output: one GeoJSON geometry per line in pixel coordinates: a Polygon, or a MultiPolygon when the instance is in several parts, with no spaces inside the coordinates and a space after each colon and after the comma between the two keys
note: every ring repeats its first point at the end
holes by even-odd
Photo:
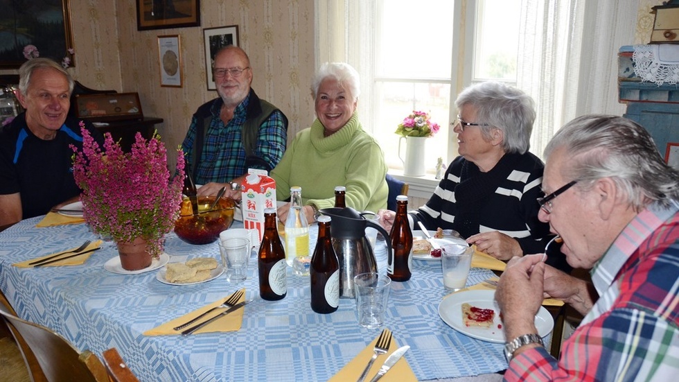
{"type": "Polygon", "coordinates": [[[412,231],[408,222],[408,197],[396,197],[396,217],[389,233],[391,254],[387,257],[387,276],[393,281],[408,281],[412,276],[412,231]]]}

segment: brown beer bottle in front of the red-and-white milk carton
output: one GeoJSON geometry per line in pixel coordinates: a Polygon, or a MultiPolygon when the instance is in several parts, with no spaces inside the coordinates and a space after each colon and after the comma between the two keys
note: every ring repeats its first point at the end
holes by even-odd
{"type": "Polygon", "coordinates": [[[279,237],[276,209],[264,210],[264,237],[259,246],[259,295],[263,299],[282,299],[288,294],[288,264],[279,237]]]}

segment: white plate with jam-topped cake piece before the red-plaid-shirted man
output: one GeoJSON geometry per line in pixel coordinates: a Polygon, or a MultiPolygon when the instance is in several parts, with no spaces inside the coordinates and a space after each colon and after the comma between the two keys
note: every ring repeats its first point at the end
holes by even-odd
{"type": "MultiPolygon", "coordinates": [[[[460,333],[488,342],[504,343],[500,308],[495,302],[495,290],[461,290],[451,293],[439,303],[439,316],[460,333]]],[[[535,316],[540,337],[554,329],[554,319],[544,306],[535,316]]]]}

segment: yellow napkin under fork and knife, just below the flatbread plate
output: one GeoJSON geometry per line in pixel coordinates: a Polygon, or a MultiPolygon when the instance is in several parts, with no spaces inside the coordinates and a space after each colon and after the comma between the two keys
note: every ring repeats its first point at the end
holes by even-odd
{"type": "MultiPolygon", "coordinates": [[[[227,309],[216,309],[215,311],[211,312],[209,315],[206,315],[204,318],[201,318],[194,324],[189,325],[188,327],[183,328],[182,330],[175,330],[173,329],[174,327],[177,327],[181,324],[184,324],[184,322],[190,321],[193,318],[197,317],[198,315],[204,313],[205,311],[208,311],[209,309],[215,307],[215,306],[220,306],[224,300],[226,300],[229,296],[224,297],[222,299],[218,299],[217,301],[213,302],[212,304],[203,306],[200,309],[196,309],[195,311],[191,313],[186,313],[185,315],[182,315],[182,317],[175,318],[174,320],[170,322],[166,322],[159,327],[155,327],[153,329],[149,329],[144,332],[144,336],[166,336],[168,334],[181,334],[182,331],[193,327],[193,325],[200,324],[200,322],[204,322],[205,320],[209,320],[210,318],[213,318],[215,315],[218,315],[219,313],[222,313],[223,311],[226,311],[227,309]]],[[[245,288],[243,288],[243,297],[240,297],[238,302],[243,302],[245,301],[245,288]]],[[[243,324],[243,311],[247,306],[243,306],[242,308],[238,309],[237,311],[233,311],[227,315],[225,315],[222,318],[219,318],[218,320],[214,320],[213,322],[210,322],[210,324],[207,324],[206,326],[198,329],[197,331],[194,331],[193,334],[198,334],[198,333],[211,333],[211,332],[222,332],[222,331],[239,331],[240,330],[240,325],[243,324]]]]}

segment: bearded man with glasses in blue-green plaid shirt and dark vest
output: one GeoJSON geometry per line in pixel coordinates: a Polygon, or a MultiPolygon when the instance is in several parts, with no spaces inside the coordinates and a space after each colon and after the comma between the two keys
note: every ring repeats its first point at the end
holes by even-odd
{"type": "Polygon", "coordinates": [[[240,200],[248,168],[271,171],[283,157],[288,118],[260,99],[250,87],[252,67],[243,49],[225,46],[215,55],[213,73],[218,98],[193,114],[182,150],[199,196],[215,195],[222,186],[240,200]]]}

